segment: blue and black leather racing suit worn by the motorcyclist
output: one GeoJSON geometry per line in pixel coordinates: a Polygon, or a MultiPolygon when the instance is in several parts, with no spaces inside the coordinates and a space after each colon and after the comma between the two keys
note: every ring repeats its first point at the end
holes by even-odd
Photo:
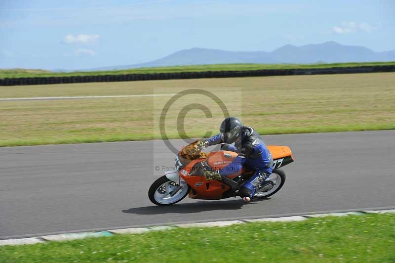
{"type": "MultiPolygon", "coordinates": [[[[208,145],[215,145],[224,143],[220,134],[215,135],[207,139],[208,145]]],[[[235,145],[224,144],[221,150],[228,150],[237,152],[237,157],[226,166],[221,169],[220,175],[232,175],[236,171],[240,171],[242,166],[255,171],[255,174],[251,176],[243,185],[242,188],[247,188],[249,195],[255,193],[256,179],[264,174],[266,177],[272,173],[273,170],[273,157],[265,143],[262,141],[261,136],[258,132],[255,132],[251,127],[243,126],[241,133],[241,139],[235,142],[235,145]]]]}

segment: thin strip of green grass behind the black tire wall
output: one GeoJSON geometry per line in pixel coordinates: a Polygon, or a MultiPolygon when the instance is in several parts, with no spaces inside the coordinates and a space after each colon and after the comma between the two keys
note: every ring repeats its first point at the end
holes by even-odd
{"type": "Polygon", "coordinates": [[[90,72],[51,72],[35,69],[0,69],[0,79],[4,78],[33,78],[33,77],[64,77],[64,76],[98,76],[98,75],[122,75],[143,73],[170,73],[170,72],[199,72],[221,70],[259,70],[259,69],[295,69],[295,68],[333,68],[333,67],[356,67],[356,66],[380,66],[395,65],[395,62],[366,62],[366,63],[332,63],[332,64],[210,64],[191,66],[170,66],[136,68],[110,71],[90,72]]]}

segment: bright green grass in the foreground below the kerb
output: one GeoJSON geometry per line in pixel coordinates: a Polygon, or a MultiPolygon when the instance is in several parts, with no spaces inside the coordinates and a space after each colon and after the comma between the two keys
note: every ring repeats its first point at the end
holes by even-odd
{"type": "Polygon", "coordinates": [[[178,228],[0,247],[0,262],[395,262],[395,215],[178,228]]]}

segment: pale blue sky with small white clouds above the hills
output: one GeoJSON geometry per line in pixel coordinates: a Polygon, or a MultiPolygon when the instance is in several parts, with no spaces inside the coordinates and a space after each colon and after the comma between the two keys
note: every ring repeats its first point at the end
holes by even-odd
{"type": "Polygon", "coordinates": [[[394,0],[0,0],[0,68],[89,69],[192,47],[395,49],[394,0]]]}

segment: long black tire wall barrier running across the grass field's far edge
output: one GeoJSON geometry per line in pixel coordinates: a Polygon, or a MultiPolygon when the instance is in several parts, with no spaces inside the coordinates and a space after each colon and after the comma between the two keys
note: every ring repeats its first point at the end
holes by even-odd
{"type": "Polygon", "coordinates": [[[87,82],[178,80],[178,79],[200,79],[200,78],[237,78],[237,77],[318,75],[318,74],[352,74],[352,73],[374,73],[374,72],[395,72],[395,65],[319,68],[319,69],[264,69],[264,70],[245,70],[245,71],[173,72],[173,73],[100,75],[100,76],[46,77],[46,78],[5,78],[5,79],[0,79],[0,86],[46,85],[46,84],[64,84],[64,83],[87,83],[87,82]]]}

